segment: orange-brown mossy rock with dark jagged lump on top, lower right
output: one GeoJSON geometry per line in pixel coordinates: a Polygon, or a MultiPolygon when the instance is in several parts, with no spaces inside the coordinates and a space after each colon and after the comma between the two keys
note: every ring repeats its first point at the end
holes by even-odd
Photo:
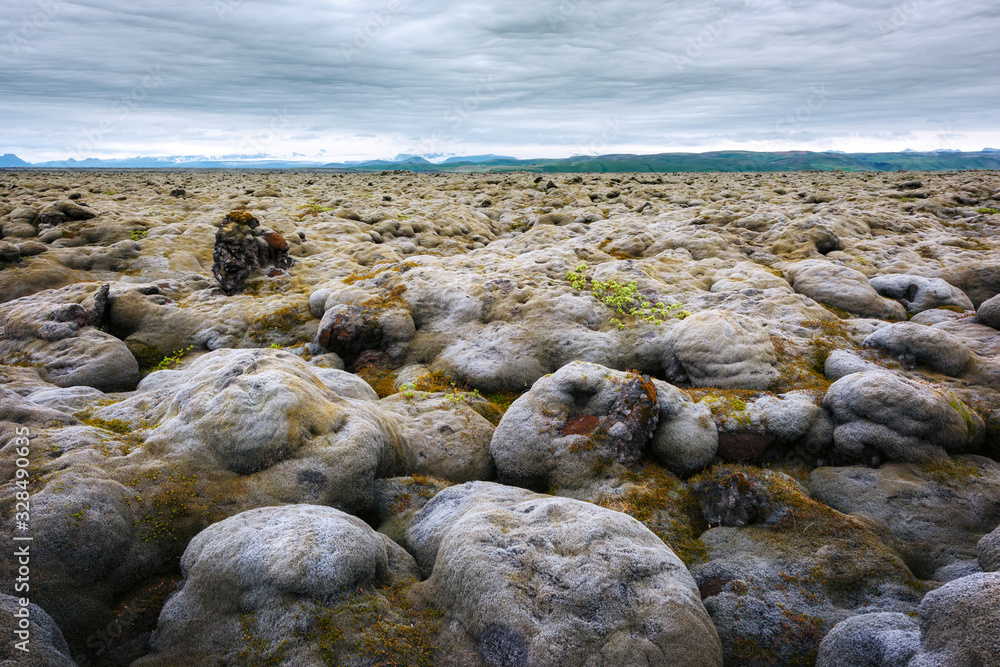
{"type": "Polygon", "coordinates": [[[810,499],[780,473],[720,466],[692,489],[711,528],[692,568],[730,664],[811,662],[863,612],[913,611],[922,590],[878,526],[810,499]]]}

